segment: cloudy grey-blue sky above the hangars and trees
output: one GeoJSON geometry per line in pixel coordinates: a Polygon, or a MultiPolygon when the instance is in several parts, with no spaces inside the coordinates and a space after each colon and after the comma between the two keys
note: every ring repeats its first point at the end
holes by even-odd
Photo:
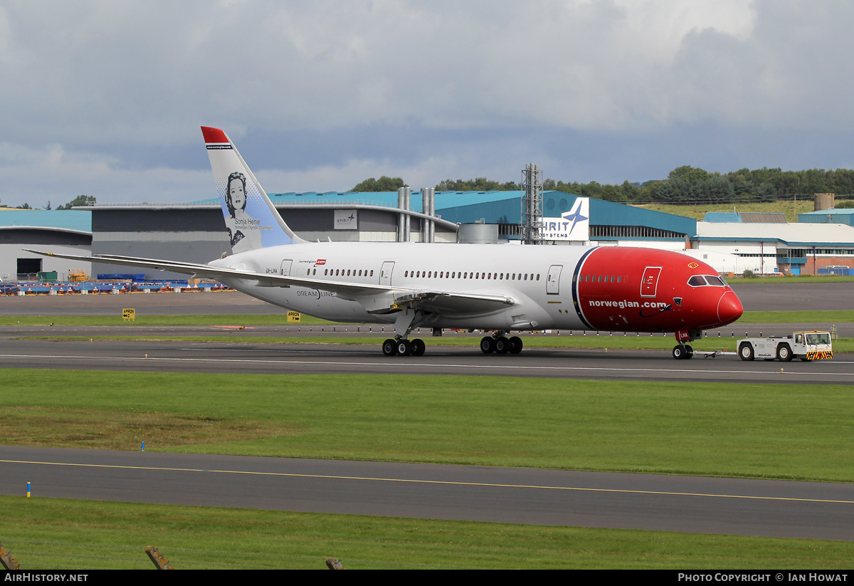
{"type": "Polygon", "coordinates": [[[854,168],[845,0],[0,0],[0,202],[854,168]]]}

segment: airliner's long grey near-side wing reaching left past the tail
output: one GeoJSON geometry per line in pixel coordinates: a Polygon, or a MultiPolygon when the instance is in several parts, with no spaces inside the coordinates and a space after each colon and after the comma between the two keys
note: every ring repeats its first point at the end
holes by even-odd
{"type": "Polygon", "coordinates": [[[26,249],[37,255],[53,256],[71,261],[102,262],[126,267],[153,268],[160,271],[181,272],[196,277],[216,279],[241,279],[255,281],[266,287],[307,287],[336,293],[345,299],[359,302],[368,311],[389,313],[396,309],[409,307],[437,314],[487,314],[506,308],[515,302],[510,296],[480,293],[459,293],[455,291],[425,290],[392,287],[389,285],[347,283],[327,281],[319,278],[290,277],[275,273],[246,271],[231,267],[212,267],[193,262],[161,261],[139,258],[137,256],[61,255],[53,252],[26,249]]]}

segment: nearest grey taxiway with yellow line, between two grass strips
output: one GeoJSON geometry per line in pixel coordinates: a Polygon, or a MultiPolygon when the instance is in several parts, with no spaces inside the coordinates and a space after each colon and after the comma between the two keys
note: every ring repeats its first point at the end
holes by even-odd
{"type": "Polygon", "coordinates": [[[0,448],[0,493],[854,541],[854,484],[0,448]]]}

